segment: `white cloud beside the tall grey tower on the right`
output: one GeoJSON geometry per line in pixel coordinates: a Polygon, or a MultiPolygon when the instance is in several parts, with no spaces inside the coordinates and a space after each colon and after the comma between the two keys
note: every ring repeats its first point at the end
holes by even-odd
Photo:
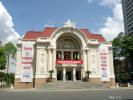
{"type": "Polygon", "coordinates": [[[120,32],[124,32],[122,5],[120,0],[102,0],[100,5],[111,7],[113,13],[113,16],[105,19],[104,26],[98,30],[107,41],[110,41],[120,32]]]}

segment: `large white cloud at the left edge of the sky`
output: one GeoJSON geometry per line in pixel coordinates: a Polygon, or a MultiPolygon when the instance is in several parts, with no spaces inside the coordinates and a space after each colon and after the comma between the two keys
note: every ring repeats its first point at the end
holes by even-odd
{"type": "Polygon", "coordinates": [[[0,1],[0,41],[16,42],[20,35],[15,31],[12,17],[0,1]]]}

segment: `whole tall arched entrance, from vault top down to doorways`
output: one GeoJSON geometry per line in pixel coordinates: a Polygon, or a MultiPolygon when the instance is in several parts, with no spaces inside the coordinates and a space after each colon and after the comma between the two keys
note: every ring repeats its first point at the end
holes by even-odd
{"type": "Polygon", "coordinates": [[[81,80],[82,43],[73,33],[63,33],[56,41],[57,80],[81,80]]]}

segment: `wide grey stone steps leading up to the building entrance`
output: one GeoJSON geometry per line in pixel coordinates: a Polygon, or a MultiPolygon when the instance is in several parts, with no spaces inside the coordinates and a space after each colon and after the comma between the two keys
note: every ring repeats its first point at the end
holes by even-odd
{"type": "Polygon", "coordinates": [[[75,89],[105,89],[102,84],[96,84],[91,82],[82,82],[82,81],[57,81],[49,82],[44,86],[45,90],[75,90],[75,89]]]}

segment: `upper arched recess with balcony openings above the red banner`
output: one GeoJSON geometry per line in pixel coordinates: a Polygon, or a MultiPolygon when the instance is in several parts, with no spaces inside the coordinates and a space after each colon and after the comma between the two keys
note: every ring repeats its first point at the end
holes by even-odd
{"type": "Polygon", "coordinates": [[[82,42],[81,40],[74,35],[73,33],[64,33],[56,40],[56,53],[57,59],[62,60],[79,60],[81,59],[81,51],[82,51],[82,42]],[[59,51],[64,53],[62,57],[60,57],[59,51]],[[70,56],[66,55],[65,52],[69,52],[70,56]],[[77,55],[77,56],[76,56],[77,55]],[[58,57],[59,56],[59,57],[58,57]]]}

